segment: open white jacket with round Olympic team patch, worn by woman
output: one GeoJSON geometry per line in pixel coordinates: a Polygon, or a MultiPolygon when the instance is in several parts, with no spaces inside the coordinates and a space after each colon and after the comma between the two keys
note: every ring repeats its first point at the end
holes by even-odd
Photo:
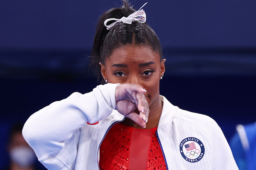
{"type": "MultiPolygon", "coordinates": [[[[104,136],[113,124],[124,120],[115,110],[116,85],[99,85],[87,94],[74,92],[29,117],[23,136],[46,168],[99,169],[104,136]]],[[[238,169],[222,130],[212,118],[184,111],[163,96],[160,99],[163,108],[157,138],[167,168],[238,169]]]]}

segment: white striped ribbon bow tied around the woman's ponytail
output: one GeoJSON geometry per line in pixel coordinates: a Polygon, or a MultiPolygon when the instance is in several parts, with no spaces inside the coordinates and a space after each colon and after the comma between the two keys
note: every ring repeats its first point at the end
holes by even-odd
{"type": "MultiPolygon", "coordinates": [[[[146,5],[146,4],[147,4],[147,2],[144,5],[146,5]]],[[[142,7],[144,5],[142,5],[142,7]]],[[[121,19],[116,19],[116,18],[106,19],[104,21],[104,26],[107,28],[107,30],[109,30],[109,29],[113,28],[116,25],[116,23],[121,22],[121,21],[124,23],[129,23],[129,24],[131,24],[132,21],[135,21],[135,20],[139,21],[141,23],[144,23],[144,22],[146,22],[146,13],[143,9],[141,9],[142,7],[140,7],[140,9],[138,11],[132,13],[128,17],[122,17],[121,19]],[[115,21],[115,22],[107,25],[107,22],[109,22],[109,21],[115,21]]]]}

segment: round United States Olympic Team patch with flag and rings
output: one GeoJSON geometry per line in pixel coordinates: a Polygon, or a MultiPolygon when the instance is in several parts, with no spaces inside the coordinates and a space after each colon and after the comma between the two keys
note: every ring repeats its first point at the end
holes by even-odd
{"type": "Polygon", "coordinates": [[[182,157],[188,162],[198,162],[204,155],[204,145],[201,140],[188,137],[181,141],[180,152],[182,157]]]}

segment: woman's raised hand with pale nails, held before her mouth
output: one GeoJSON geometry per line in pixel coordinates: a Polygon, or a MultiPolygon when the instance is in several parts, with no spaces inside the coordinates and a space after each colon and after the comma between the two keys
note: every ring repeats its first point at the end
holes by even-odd
{"type": "Polygon", "coordinates": [[[146,128],[149,108],[145,96],[145,89],[137,84],[118,84],[115,91],[116,109],[125,117],[146,128]],[[138,108],[140,114],[134,112],[138,108]]]}

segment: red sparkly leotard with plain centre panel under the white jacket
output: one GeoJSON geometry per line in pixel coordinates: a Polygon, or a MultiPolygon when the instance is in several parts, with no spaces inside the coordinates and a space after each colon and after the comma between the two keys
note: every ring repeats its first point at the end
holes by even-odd
{"type": "Polygon", "coordinates": [[[166,169],[156,130],[114,124],[100,146],[100,169],[166,169]]]}

